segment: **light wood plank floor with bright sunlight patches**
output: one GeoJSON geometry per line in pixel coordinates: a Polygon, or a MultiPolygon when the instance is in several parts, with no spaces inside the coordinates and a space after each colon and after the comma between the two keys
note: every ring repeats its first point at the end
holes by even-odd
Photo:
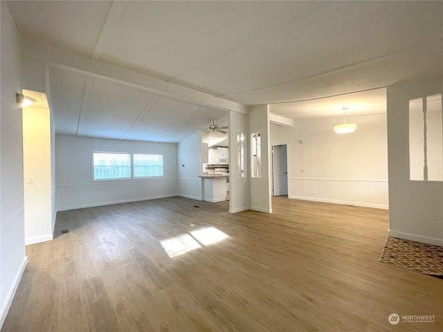
{"type": "Polygon", "coordinates": [[[1,331],[443,331],[443,279],[379,263],[386,210],[273,210],[176,197],[59,212],[57,237],[26,247],[1,331]]]}

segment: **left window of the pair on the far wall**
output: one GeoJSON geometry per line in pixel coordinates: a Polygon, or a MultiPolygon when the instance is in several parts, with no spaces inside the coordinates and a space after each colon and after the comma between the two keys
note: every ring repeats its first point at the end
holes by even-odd
{"type": "Polygon", "coordinates": [[[131,177],[131,155],[94,152],[94,180],[131,177]]]}

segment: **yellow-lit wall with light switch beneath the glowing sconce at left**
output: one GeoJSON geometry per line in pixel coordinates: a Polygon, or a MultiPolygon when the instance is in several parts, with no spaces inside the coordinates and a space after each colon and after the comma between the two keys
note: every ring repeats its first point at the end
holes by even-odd
{"type": "Polygon", "coordinates": [[[49,109],[23,109],[23,150],[25,244],[28,245],[53,239],[49,109]]]}

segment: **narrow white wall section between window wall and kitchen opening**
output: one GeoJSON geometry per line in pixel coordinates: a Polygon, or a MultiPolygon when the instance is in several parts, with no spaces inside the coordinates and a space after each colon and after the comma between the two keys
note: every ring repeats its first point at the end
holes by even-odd
{"type": "Polygon", "coordinates": [[[201,200],[201,132],[179,142],[177,147],[179,192],[189,199],[201,200]]]}

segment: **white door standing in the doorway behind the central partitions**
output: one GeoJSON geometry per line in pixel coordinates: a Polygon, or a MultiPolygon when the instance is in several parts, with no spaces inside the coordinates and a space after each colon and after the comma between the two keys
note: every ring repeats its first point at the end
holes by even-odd
{"type": "Polygon", "coordinates": [[[272,147],[273,196],[288,194],[288,168],[286,145],[272,147]]]}

